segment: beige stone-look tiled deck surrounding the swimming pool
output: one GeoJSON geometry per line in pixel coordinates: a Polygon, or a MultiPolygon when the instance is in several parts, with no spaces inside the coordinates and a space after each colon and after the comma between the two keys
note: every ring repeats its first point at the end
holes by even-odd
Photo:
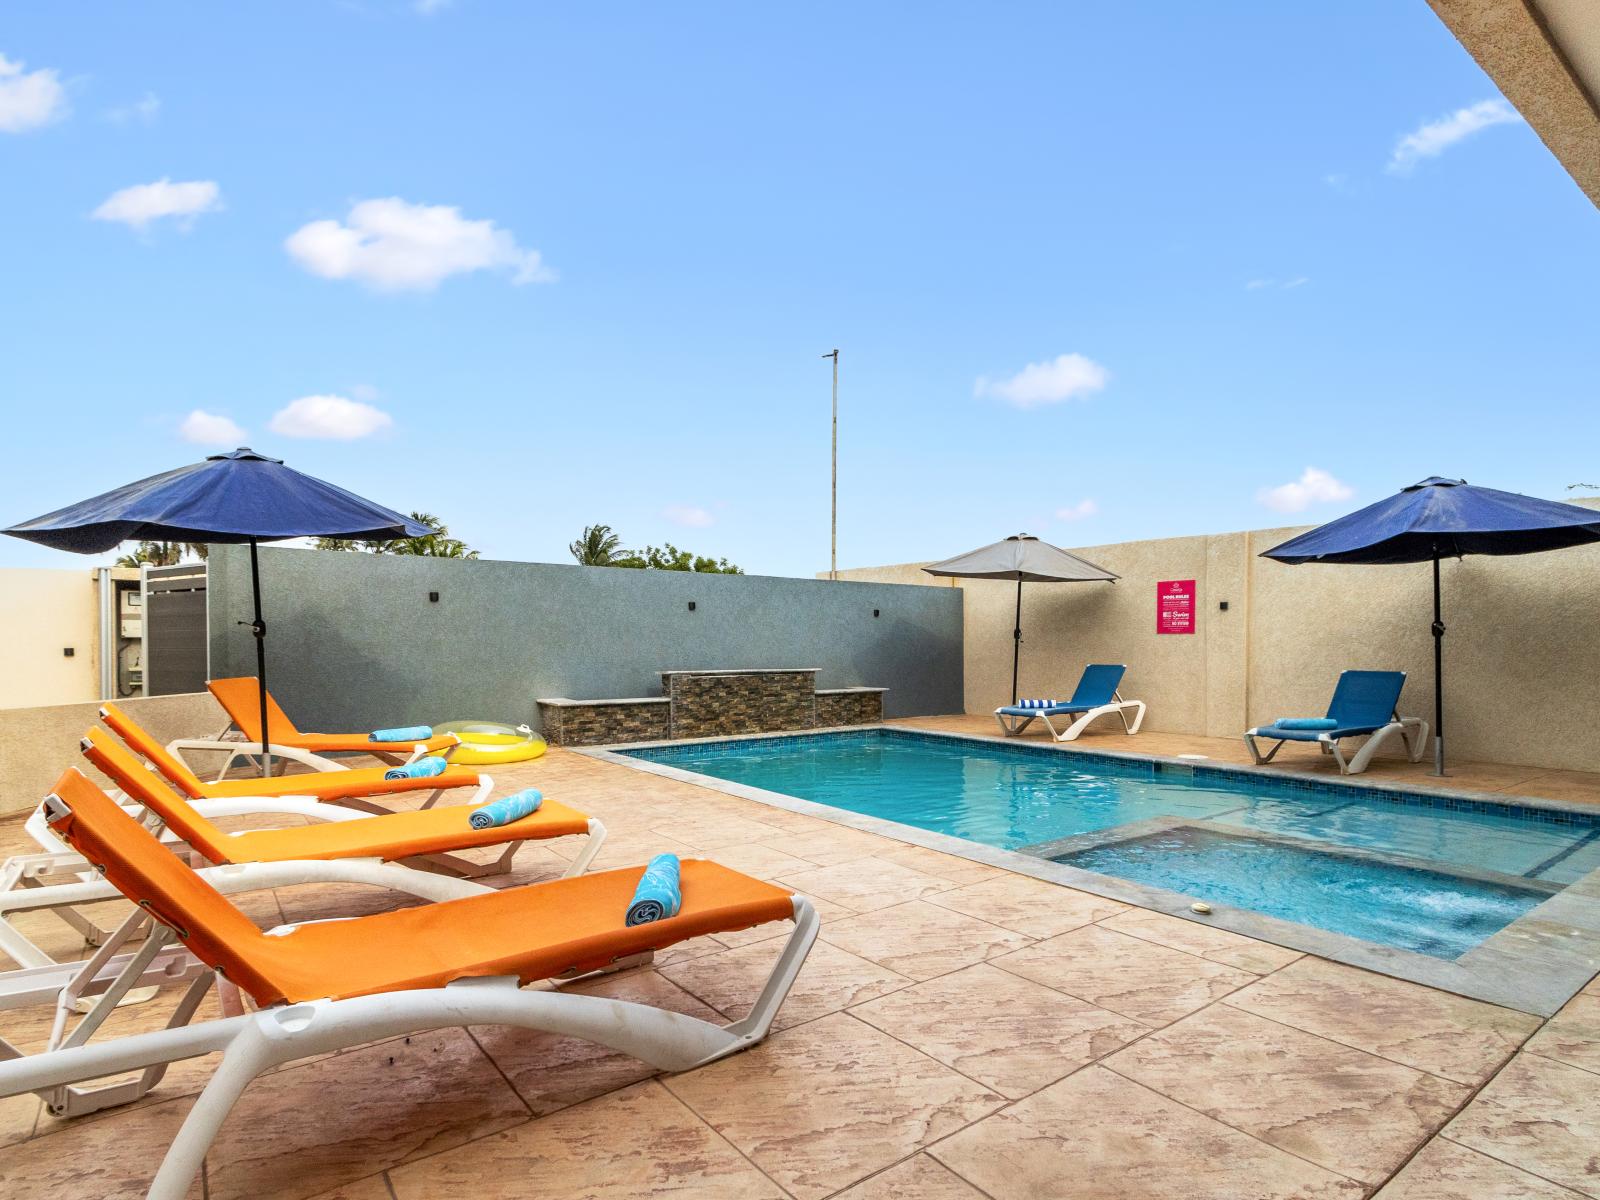
{"type": "MultiPolygon", "coordinates": [[[[1237,742],[1165,734],[1082,747],[1245,758],[1237,742]]],[[[1283,770],[1304,766],[1325,770],[1310,755],[1283,770]]],[[[1408,765],[1371,778],[1427,782],[1408,765]]],[[[1600,981],[1544,1021],[579,754],[498,779],[603,819],[597,867],[670,850],[811,896],[822,933],[778,1032],[675,1077],[498,1029],[301,1062],[251,1086],[192,1195],[1600,1197],[1600,981]]],[[[1600,805],[1600,778],[1570,771],[1462,766],[1448,784],[1600,805]]],[[[21,829],[0,827],[0,853],[21,848],[21,829]]],[[[526,850],[506,882],[557,874],[557,851],[571,853],[526,850]]],[[[275,925],[392,902],[296,888],[256,896],[251,914],[275,925]]],[[[74,952],[51,920],[38,934],[74,952]]],[[[696,939],[590,987],[738,1016],[773,933],[696,939]]],[[[45,1035],[0,1019],[29,1048],[45,1035]]],[[[0,1101],[0,1194],[142,1195],[213,1066],[182,1064],[139,1104],[74,1123],[0,1101]]]]}

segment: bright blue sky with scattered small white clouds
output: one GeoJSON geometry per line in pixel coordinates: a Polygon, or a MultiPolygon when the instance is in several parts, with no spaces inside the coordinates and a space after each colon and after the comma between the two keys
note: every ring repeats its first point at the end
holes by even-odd
{"type": "Polygon", "coordinates": [[[234,422],[808,574],[835,346],[846,566],[1600,475],[1600,214],[1422,0],[10,6],[0,181],[0,523],[234,422]]]}

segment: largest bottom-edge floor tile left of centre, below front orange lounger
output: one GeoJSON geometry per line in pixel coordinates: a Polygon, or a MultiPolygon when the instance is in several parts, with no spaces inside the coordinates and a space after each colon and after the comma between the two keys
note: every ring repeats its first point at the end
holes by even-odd
{"type": "Polygon", "coordinates": [[[659,1083],[640,1083],[389,1173],[398,1200],[778,1200],[659,1083]]]}

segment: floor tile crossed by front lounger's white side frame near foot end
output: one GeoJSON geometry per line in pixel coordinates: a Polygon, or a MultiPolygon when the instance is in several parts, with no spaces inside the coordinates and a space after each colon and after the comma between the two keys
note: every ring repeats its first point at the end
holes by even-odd
{"type": "MultiPolygon", "coordinates": [[[[605,976],[566,990],[630,1000],[717,1024],[723,1021],[714,1008],[707,1008],[654,970],[605,976]]],[[[536,1117],[626,1088],[656,1074],[653,1067],[630,1054],[574,1037],[507,1026],[474,1026],[472,1037],[494,1066],[506,1072],[506,1078],[536,1117]]]]}

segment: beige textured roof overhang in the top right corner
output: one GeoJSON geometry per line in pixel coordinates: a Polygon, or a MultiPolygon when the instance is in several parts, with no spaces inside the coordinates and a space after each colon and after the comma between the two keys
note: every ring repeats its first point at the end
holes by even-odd
{"type": "Polygon", "coordinates": [[[1600,205],[1600,3],[1427,0],[1600,205]]]}

